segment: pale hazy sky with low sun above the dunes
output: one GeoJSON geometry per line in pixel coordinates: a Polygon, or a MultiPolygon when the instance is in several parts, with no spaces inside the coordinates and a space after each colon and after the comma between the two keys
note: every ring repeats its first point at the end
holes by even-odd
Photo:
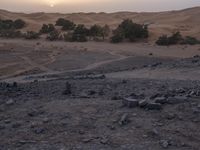
{"type": "Polygon", "coordinates": [[[165,11],[200,6],[200,0],[0,0],[0,9],[20,12],[165,11]]]}

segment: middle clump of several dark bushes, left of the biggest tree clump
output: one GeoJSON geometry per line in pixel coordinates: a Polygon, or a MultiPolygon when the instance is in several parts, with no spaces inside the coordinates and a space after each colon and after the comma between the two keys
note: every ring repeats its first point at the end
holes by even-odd
{"type": "Polygon", "coordinates": [[[76,25],[74,22],[63,18],[59,18],[55,26],[53,24],[44,24],[40,30],[40,34],[48,34],[47,40],[50,41],[65,40],[69,42],[86,42],[88,39],[104,40],[110,33],[108,25],[103,27],[93,25],[87,28],[83,24],[76,25]],[[64,34],[58,31],[55,26],[60,26],[64,34]]]}

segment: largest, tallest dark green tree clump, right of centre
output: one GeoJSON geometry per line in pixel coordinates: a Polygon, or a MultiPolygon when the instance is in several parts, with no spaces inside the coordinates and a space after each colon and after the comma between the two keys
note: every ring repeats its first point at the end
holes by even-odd
{"type": "Polygon", "coordinates": [[[147,25],[137,24],[130,19],[126,19],[113,31],[111,42],[119,43],[124,40],[135,42],[136,40],[146,39],[148,36],[147,25]]]}

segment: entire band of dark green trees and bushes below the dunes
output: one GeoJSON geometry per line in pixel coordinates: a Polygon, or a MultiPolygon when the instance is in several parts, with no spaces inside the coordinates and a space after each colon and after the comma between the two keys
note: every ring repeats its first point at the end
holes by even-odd
{"type": "MultiPolygon", "coordinates": [[[[38,39],[42,34],[47,34],[46,39],[49,41],[64,40],[69,42],[86,42],[88,40],[104,40],[110,37],[111,30],[108,25],[92,25],[87,28],[83,24],[76,25],[70,20],[59,18],[56,24],[43,24],[39,32],[27,31],[22,33],[20,29],[26,26],[25,21],[22,19],[17,20],[1,20],[0,19],[0,37],[5,38],[25,38],[25,39],[38,39]],[[56,28],[60,26],[60,30],[56,28]]],[[[148,26],[134,23],[130,19],[126,19],[113,30],[110,38],[111,42],[119,43],[124,40],[135,42],[137,40],[147,39],[149,36],[148,26]]],[[[200,41],[194,37],[183,37],[180,32],[175,32],[170,36],[162,35],[156,41],[157,45],[175,45],[175,44],[200,44],[200,41]]]]}

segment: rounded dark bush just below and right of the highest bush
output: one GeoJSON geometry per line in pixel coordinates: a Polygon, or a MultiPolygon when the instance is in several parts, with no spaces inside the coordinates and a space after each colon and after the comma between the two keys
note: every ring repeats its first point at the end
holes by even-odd
{"type": "Polygon", "coordinates": [[[78,25],[72,34],[72,41],[86,42],[89,30],[82,24],[78,25]]]}

